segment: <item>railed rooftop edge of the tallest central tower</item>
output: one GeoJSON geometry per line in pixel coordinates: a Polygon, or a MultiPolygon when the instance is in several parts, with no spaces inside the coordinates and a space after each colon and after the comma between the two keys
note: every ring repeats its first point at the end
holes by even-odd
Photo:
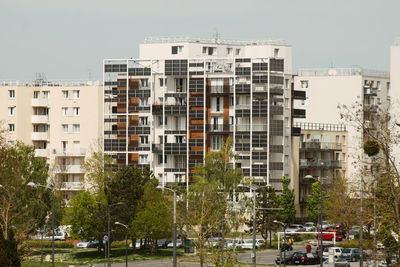
{"type": "Polygon", "coordinates": [[[225,44],[225,45],[284,45],[289,46],[286,40],[263,39],[263,40],[227,40],[219,38],[200,38],[185,36],[170,37],[146,37],[145,44],[158,43],[203,43],[203,44],[225,44]]]}

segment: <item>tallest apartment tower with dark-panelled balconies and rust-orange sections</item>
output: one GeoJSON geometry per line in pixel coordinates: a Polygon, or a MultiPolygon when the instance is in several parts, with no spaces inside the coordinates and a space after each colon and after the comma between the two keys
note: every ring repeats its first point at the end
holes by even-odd
{"type": "Polygon", "coordinates": [[[280,190],[292,117],[305,116],[292,113],[291,53],[277,40],[147,38],[139,58],[104,60],[105,153],[188,184],[232,137],[244,174],[280,190]]]}

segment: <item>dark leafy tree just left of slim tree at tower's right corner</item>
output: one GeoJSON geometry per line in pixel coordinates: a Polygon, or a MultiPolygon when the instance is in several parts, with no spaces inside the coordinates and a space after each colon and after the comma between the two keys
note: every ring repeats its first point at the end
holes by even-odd
{"type": "MultiPolygon", "coordinates": [[[[279,198],[273,187],[260,187],[256,190],[256,230],[261,233],[264,240],[270,237],[272,239],[272,231],[277,230],[278,225],[274,220],[279,220],[280,211],[273,210],[279,208],[279,198]],[[271,209],[271,210],[267,210],[271,209]]],[[[253,232],[253,217],[246,222],[249,232],[253,232]]],[[[272,243],[270,242],[272,246],[272,243]]]]}

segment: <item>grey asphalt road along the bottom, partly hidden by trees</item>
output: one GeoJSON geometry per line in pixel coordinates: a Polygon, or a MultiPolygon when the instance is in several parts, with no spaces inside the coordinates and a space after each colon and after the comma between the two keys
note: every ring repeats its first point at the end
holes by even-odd
{"type": "MultiPolygon", "coordinates": [[[[304,246],[294,246],[293,248],[296,251],[305,251],[304,246]]],[[[277,255],[279,254],[278,250],[264,250],[264,251],[257,251],[257,264],[274,264],[277,255]]],[[[179,267],[194,267],[199,266],[199,262],[190,262],[193,259],[183,259],[178,258],[178,266],[179,267]]],[[[238,260],[241,263],[248,263],[249,266],[251,265],[251,251],[246,253],[239,253],[238,260]]],[[[89,265],[75,265],[74,267],[88,267],[89,265]]],[[[105,267],[104,264],[95,264],[95,267],[105,267]]],[[[113,263],[112,267],[125,267],[125,263],[113,263]]],[[[150,266],[160,266],[160,267],[171,267],[172,266],[172,259],[165,259],[165,260],[149,260],[149,261],[132,261],[128,263],[128,266],[138,266],[138,267],[150,267],[150,266]]],[[[317,267],[319,265],[307,265],[310,267],[317,267]]],[[[358,262],[352,262],[351,267],[359,266],[358,262]]]]}

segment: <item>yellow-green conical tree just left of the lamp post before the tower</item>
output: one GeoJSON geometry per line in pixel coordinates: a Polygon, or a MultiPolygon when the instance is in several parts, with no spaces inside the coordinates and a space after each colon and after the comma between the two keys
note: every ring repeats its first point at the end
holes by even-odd
{"type": "Polygon", "coordinates": [[[133,236],[149,238],[152,241],[152,253],[156,252],[158,239],[171,236],[173,222],[171,201],[164,196],[157,185],[156,179],[145,185],[139,212],[131,223],[133,236]]]}

